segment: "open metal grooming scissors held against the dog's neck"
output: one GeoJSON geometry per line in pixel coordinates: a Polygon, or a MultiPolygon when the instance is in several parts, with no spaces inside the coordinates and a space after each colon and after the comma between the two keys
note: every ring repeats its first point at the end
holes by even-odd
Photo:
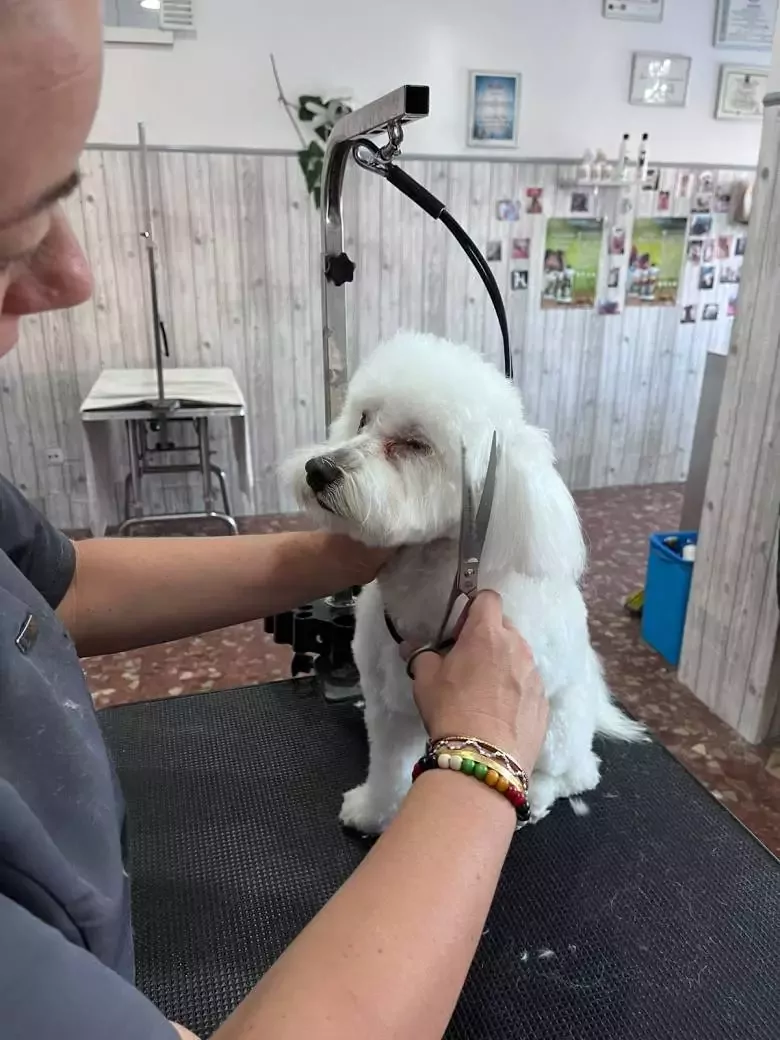
{"type": "Polygon", "coordinates": [[[495,431],[490,444],[490,457],[488,468],[485,472],[485,483],[479,504],[474,509],[474,495],[466,473],[466,447],[461,445],[461,487],[463,489],[463,504],[461,506],[461,536],[458,544],[458,570],[452,581],[452,591],[447,600],[444,618],[439,628],[436,639],[432,643],[418,647],[412,652],[407,661],[407,674],[414,678],[412,665],[421,653],[433,650],[435,653],[443,653],[454,645],[454,640],[445,640],[444,633],[447,630],[450,616],[462,597],[466,597],[466,604],[461,612],[461,616],[456,625],[464,618],[469,609],[474,596],[479,588],[479,564],[482,563],[485,541],[488,537],[488,526],[490,524],[490,514],[493,510],[493,497],[496,490],[496,469],[498,466],[498,442],[495,431]]]}

